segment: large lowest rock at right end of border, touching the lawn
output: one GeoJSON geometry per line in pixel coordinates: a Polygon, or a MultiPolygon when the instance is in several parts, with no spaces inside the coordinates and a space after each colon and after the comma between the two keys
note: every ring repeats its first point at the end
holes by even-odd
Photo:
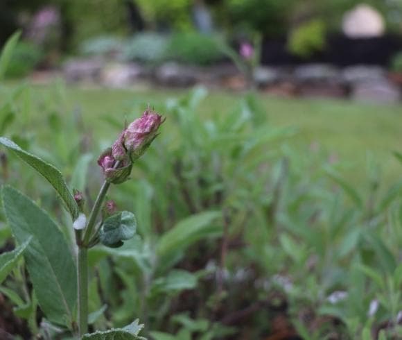
{"type": "Polygon", "coordinates": [[[396,103],[401,99],[399,88],[386,80],[358,83],[351,91],[352,99],[376,103],[396,103]]]}

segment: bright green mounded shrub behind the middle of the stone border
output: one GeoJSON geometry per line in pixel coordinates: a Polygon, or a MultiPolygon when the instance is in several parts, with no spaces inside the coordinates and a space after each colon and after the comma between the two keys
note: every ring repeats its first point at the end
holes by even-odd
{"type": "Polygon", "coordinates": [[[172,35],[167,53],[173,60],[193,65],[210,65],[223,58],[216,37],[196,32],[172,35]]]}

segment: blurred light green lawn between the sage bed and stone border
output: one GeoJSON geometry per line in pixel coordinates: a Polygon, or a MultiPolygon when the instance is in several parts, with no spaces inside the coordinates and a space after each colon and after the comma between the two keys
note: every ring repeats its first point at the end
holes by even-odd
{"type": "MultiPolygon", "coordinates": [[[[53,90],[53,87],[35,87],[33,98],[46,97],[53,90]]],[[[172,90],[82,90],[69,87],[64,92],[64,99],[71,110],[82,110],[85,123],[94,126],[94,137],[105,137],[107,124],[100,117],[110,115],[121,121],[125,117],[131,119],[134,117],[131,113],[134,104],[137,107],[139,103],[157,105],[160,101],[184,93],[172,90]]],[[[402,178],[402,167],[392,157],[392,151],[402,151],[402,105],[259,96],[274,126],[297,127],[298,133],[290,144],[300,150],[312,144],[324,149],[347,164],[344,176],[350,180],[360,180],[365,176],[367,154],[374,155],[376,162],[381,164],[386,182],[402,178]]],[[[225,114],[238,105],[240,98],[238,93],[214,91],[202,102],[200,114],[225,114]]]]}

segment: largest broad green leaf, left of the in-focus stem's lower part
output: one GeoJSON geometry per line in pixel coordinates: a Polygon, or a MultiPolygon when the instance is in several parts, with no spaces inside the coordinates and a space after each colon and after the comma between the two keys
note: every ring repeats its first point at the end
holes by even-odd
{"type": "Polygon", "coordinates": [[[49,215],[28,197],[8,186],[1,194],[15,239],[19,244],[30,239],[24,259],[42,311],[54,323],[71,322],[77,278],[67,241],[49,215]]]}

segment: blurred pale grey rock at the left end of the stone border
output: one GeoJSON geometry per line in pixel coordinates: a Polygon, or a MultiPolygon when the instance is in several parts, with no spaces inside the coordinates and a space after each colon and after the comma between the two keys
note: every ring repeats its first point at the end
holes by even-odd
{"type": "Polygon", "coordinates": [[[104,62],[99,58],[73,59],[63,66],[64,78],[70,82],[89,80],[97,81],[104,62]]]}

